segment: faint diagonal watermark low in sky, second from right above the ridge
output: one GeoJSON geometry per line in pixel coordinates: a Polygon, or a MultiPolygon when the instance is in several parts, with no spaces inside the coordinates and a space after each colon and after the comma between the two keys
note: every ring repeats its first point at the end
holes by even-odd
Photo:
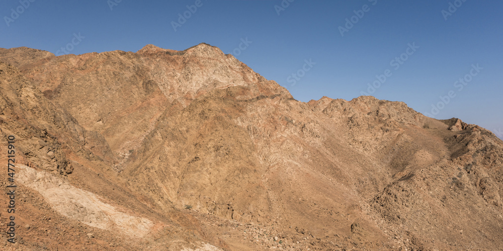
{"type": "MultiPolygon", "coordinates": [[[[395,57],[389,62],[389,65],[393,67],[393,70],[396,71],[400,68],[401,65],[405,63],[409,59],[410,56],[414,55],[414,53],[419,49],[419,46],[415,45],[415,42],[412,44],[408,43],[407,44],[407,49],[405,49],[405,52],[400,54],[398,57],[395,57]]],[[[377,89],[381,87],[382,84],[386,82],[386,80],[393,75],[393,71],[388,68],[384,70],[384,72],[380,75],[376,75],[376,80],[371,83],[367,83],[367,92],[361,91],[360,95],[364,96],[370,96],[374,92],[376,92],[377,89]]]]}

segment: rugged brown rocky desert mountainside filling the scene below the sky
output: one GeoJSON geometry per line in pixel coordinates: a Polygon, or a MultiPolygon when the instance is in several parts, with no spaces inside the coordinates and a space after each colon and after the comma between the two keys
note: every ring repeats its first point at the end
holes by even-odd
{"type": "MultiPolygon", "coordinates": [[[[2,137],[19,138],[22,180],[47,183],[21,185],[21,214],[50,208],[78,248],[503,246],[503,142],[459,119],[370,96],[299,102],[207,44],[0,61],[2,137]]],[[[44,229],[23,231],[39,247],[44,229]]]]}

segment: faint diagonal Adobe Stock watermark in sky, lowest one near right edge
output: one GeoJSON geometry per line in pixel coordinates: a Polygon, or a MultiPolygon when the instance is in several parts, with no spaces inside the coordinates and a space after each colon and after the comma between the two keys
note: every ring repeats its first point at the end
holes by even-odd
{"type": "MultiPolygon", "coordinates": [[[[480,67],[478,64],[472,64],[472,68],[470,69],[469,73],[464,75],[463,77],[460,77],[458,80],[456,80],[453,84],[453,86],[457,89],[458,92],[462,91],[465,86],[470,83],[475,76],[477,76],[480,71],[484,68],[480,67]]],[[[432,109],[431,113],[425,112],[424,114],[429,117],[435,118],[435,115],[438,115],[442,109],[444,109],[447,104],[449,104],[453,98],[456,97],[456,91],[450,90],[447,92],[447,95],[445,96],[440,96],[440,101],[437,102],[437,104],[432,104],[432,109]]]]}

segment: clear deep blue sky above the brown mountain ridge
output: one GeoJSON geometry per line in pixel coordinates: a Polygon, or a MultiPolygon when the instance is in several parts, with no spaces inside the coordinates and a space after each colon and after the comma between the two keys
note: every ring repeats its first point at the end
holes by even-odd
{"type": "Polygon", "coordinates": [[[136,52],[146,44],[184,50],[205,42],[234,52],[301,101],[350,100],[364,91],[503,134],[501,1],[31,1],[27,8],[19,0],[0,3],[0,47],[57,53],[74,33],[85,38],[68,47],[72,54],[136,52]],[[195,4],[175,31],[173,22],[195,4]],[[251,42],[241,44],[244,50],[236,49],[241,39],[251,42]],[[407,50],[409,44],[418,48],[407,50]],[[477,64],[482,69],[472,70],[477,64]]]}

